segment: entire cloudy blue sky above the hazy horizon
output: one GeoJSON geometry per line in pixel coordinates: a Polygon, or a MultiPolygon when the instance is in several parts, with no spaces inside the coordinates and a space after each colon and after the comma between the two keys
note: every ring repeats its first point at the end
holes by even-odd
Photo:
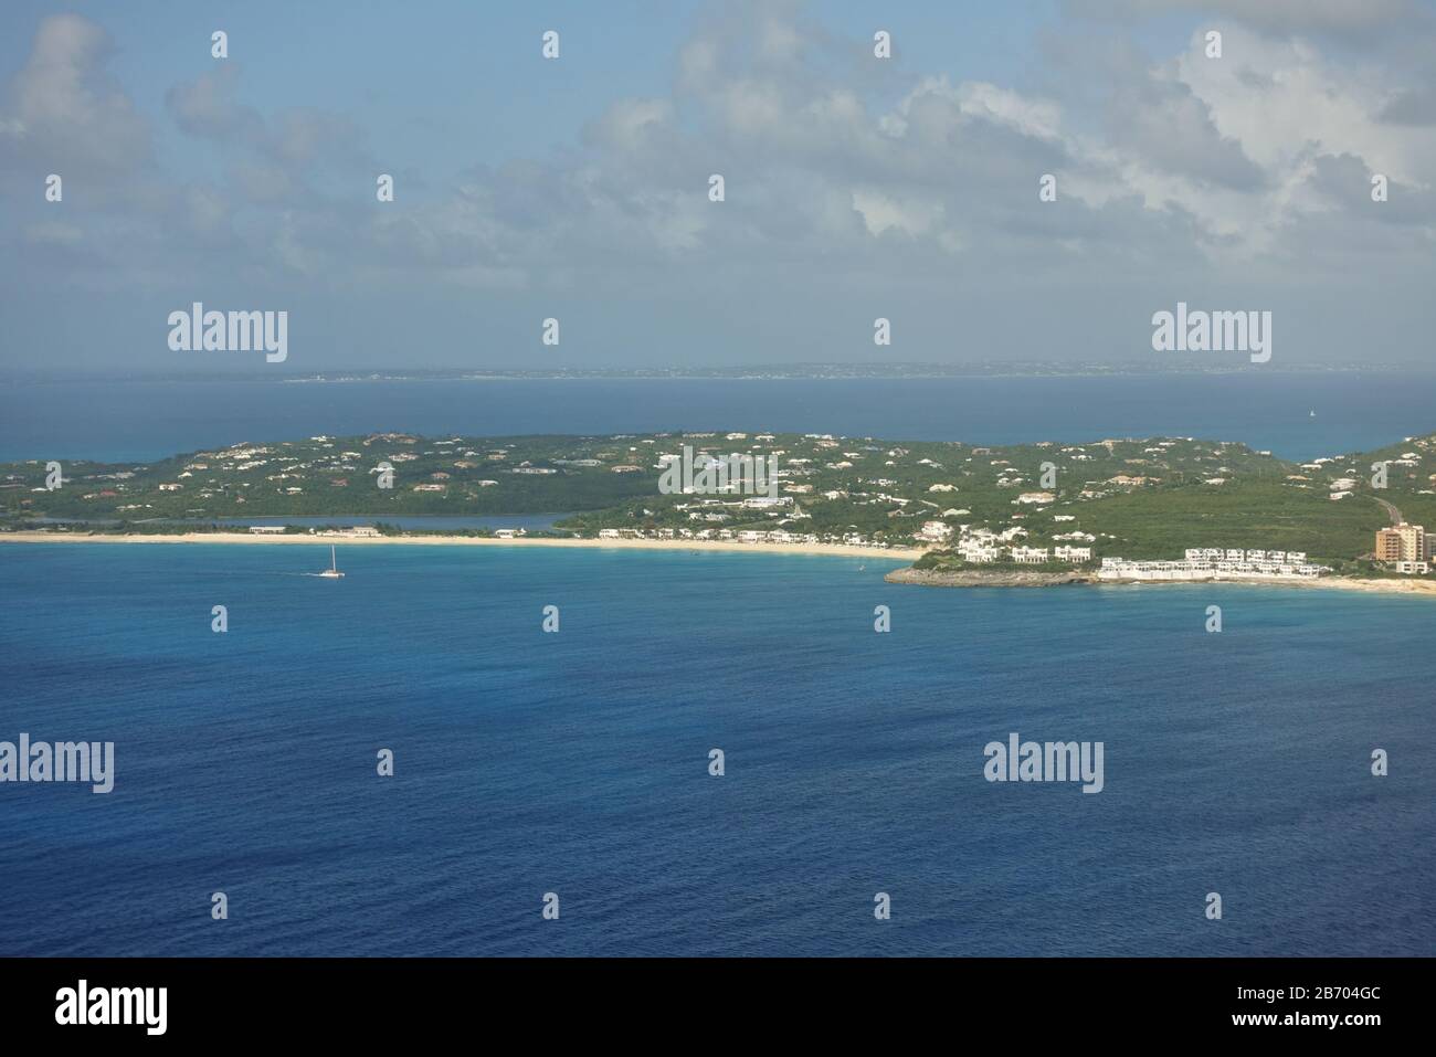
{"type": "Polygon", "coordinates": [[[1430,368],[1432,55],[1427,0],[11,0],[0,372],[1245,359],[1178,302],[1430,368]]]}

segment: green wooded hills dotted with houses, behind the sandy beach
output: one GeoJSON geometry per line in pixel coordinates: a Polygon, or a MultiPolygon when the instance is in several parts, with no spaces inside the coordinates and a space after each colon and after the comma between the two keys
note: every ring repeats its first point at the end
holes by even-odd
{"type": "MultiPolygon", "coordinates": [[[[948,541],[1005,531],[1025,546],[1090,547],[1093,560],[1180,557],[1186,547],[1301,550],[1364,574],[1379,572],[1366,559],[1373,534],[1391,520],[1384,504],[1436,528],[1436,435],[1295,464],[1244,444],[1190,438],[974,447],[748,432],[372,434],[234,445],[152,464],[70,462],[63,475],[60,488],[46,490],[43,461],[0,464],[0,528],[39,518],[165,531],[168,518],[292,516],[343,524],[346,517],[566,513],[560,527],[582,536],[781,531],[913,546],[923,526],[933,534],[936,521],[951,530],[948,541]],[[661,494],[661,457],[681,457],[685,447],[699,461],[731,452],[775,457],[781,503],[661,494]],[[1373,488],[1371,464],[1386,460],[1387,487],[1373,488]],[[392,488],[378,487],[382,464],[393,468],[392,488]]],[[[942,553],[919,564],[959,566],[942,553]]]]}

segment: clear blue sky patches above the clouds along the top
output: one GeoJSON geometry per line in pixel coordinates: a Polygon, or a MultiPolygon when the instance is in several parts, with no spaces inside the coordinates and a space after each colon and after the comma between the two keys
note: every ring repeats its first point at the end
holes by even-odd
{"type": "MultiPolygon", "coordinates": [[[[862,39],[872,32],[872,7],[829,0],[811,10],[834,32],[862,39]]],[[[961,7],[920,3],[885,11],[882,24],[899,40],[899,60],[989,80],[1030,79],[1040,59],[1037,30],[1054,4],[961,7]]],[[[705,10],[694,0],[260,0],[220,9],[141,1],[116,19],[112,3],[26,1],[4,16],[11,32],[0,39],[0,69],[24,65],[43,19],[59,11],[93,19],[113,39],[112,72],[162,134],[165,165],[207,175],[214,159],[188,149],[164,121],[165,93],[180,79],[213,72],[210,33],[224,29],[248,105],[277,111],[303,102],[362,115],[376,155],[444,172],[475,159],[546,154],[577,141],[612,99],[666,92],[678,49],[705,10]],[[549,29],[561,32],[566,55],[559,63],[538,55],[549,29]]]]}

